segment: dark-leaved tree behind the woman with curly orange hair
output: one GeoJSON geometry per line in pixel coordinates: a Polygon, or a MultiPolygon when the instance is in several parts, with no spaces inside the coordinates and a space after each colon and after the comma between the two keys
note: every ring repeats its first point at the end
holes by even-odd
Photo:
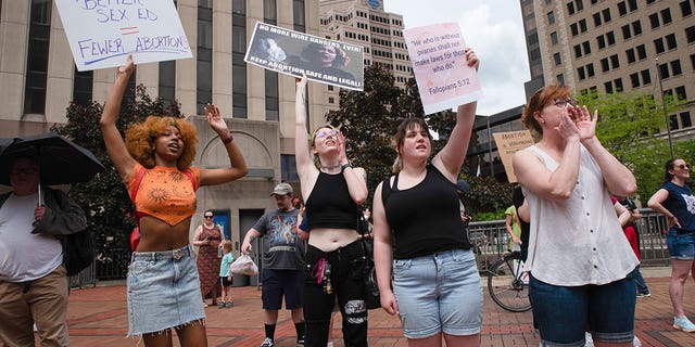
{"type": "MultiPolygon", "coordinates": [[[[71,188],[71,196],[83,207],[88,216],[88,227],[94,232],[98,266],[114,262],[112,266],[127,266],[130,230],[135,227],[132,204],[118,172],[106,153],[99,118],[103,105],[92,102],[79,105],[71,102],[67,106],[67,124],[54,126],[51,130],[65,136],[75,143],[90,150],[101,160],[105,170],[87,183],[77,183],[71,188]],[[124,262],[124,256],[126,261],[124,262]]],[[[149,115],[170,115],[181,117],[179,104],[162,99],[152,100],[140,85],[136,88],[135,100],[124,100],[117,127],[124,136],[125,129],[149,115]]]]}

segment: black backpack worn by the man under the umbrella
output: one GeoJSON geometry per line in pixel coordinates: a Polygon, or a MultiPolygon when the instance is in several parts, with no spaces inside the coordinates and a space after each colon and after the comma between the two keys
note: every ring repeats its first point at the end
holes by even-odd
{"type": "MultiPolygon", "coordinates": [[[[49,190],[55,197],[55,201],[60,204],[62,197],[61,194],[55,194],[52,190],[49,190]]],[[[10,193],[0,196],[0,206],[10,196],[10,193]]],[[[94,261],[96,244],[92,232],[89,229],[85,229],[72,234],[61,237],[61,245],[63,246],[63,265],[67,270],[67,275],[78,274],[80,271],[88,268],[94,261]]]]}

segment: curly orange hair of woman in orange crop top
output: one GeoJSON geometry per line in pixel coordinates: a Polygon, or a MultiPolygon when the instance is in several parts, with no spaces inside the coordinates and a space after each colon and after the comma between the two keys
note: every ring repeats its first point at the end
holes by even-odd
{"type": "Polygon", "coordinates": [[[169,116],[149,116],[144,121],[134,124],[126,130],[126,147],[128,153],[142,166],[151,169],[154,167],[154,142],[162,136],[166,128],[173,126],[181,133],[184,152],[176,166],[179,170],[187,170],[195,158],[195,144],[198,134],[195,127],[188,120],[169,116]]]}

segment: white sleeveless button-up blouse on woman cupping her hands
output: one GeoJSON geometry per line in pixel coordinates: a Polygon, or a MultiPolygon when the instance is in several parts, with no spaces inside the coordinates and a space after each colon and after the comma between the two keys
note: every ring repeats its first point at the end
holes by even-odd
{"type": "MultiPolygon", "coordinates": [[[[552,171],[558,163],[535,145],[552,171]]],[[[523,189],[531,227],[526,268],[553,285],[606,284],[624,279],[639,264],[622,233],[601,168],[581,146],[579,177],[568,200],[539,198],[523,189]]]]}

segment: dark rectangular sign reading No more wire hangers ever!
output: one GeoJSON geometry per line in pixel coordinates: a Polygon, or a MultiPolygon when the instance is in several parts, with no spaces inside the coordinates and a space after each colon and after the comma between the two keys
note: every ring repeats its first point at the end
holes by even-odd
{"type": "Polygon", "coordinates": [[[274,72],[353,90],[364,88],[364,49],[256,22],[244,56],[274,72]]]}

